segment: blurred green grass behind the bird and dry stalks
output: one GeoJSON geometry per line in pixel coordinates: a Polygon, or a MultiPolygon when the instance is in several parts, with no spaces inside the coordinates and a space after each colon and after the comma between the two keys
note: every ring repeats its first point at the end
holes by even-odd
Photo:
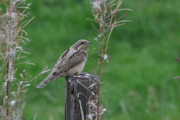
{"type": "MultiPolygon", "coordinates": [[[[29,18],[35,19],[25,28],[31,40],[24,49],[25,62],[19,65],[29,75],[37,75],[45,65],[53,67],[59,56],[78,39],[93,41],[90,45],[85,72],[93,72],[92,58],[97,43],[95,29],[86,18],[93,18],[88,0],[27,0],[32,2],[29,18]]],[[[101,86],[106,93],[101,103],[107,108],[107,120],[179,120],[180,82],[180,2],[179,0],[124,0],[121,8],[133,9],[123,19],[131,23],[116,28],[110,39],[110,63],[104,63],[101,86]]],[[[19,70],[20,70],[19,69],[19,70]]],[[[38,84],[48,73],[36,80],[38,84]]],[[[29,87],[31,91],[33,84],[29,87]]],[[[43,89],[34,89],[26,99],[25,117],[37,120],[64,119],[64,78],[43,89]]]]}

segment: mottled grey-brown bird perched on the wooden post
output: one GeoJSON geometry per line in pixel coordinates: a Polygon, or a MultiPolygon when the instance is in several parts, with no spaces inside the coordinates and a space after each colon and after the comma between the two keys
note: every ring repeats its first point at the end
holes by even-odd
{"type": "Polygon", "coordinates": [[[90,43],[92,42],[85,39],[80,39],[74,43],[59,57],[50,74],[36,88],[43,88],[59,77],[68,77],[81,73],[87,61],[87,51],[90,43]]]}

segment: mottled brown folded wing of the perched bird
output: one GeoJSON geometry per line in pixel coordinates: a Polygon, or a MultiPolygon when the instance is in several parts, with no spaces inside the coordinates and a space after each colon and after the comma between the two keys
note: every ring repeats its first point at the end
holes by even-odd
{"type": "Polygon", "coordinates": [[[53,72],[53,75],[59,75],[61,73],[67,72],[68,70],[83,62],[87,58],[86,56],[87,53],[84,51],[77,51],[73,53],[68,60],[63,61],[59,65],[57,65],[53,72]]]}

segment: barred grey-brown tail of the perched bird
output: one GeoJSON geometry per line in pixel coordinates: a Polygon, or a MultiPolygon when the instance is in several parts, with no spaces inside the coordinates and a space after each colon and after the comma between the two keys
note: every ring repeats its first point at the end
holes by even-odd
{"type": "Polygon", "coordinates": [[[50,73],[42,82],[40,82],[36,88],[43,88],[44,86],[46,86],[49,82],[57,79],[59,76],[57,75],[53,75],[52,73],[50,73]]]}

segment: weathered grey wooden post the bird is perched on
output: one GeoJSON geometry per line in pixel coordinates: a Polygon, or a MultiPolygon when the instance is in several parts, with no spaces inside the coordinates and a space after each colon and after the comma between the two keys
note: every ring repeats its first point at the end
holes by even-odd
{"type": "Polygon", "coordinates": [[[80,73],[65,79],[65,114],[64,120],[86,120],[88,99],[92,92],[96,94],[97,76],[91,73],[80,73]],[[84,116],[82,118],[82,116],[84,116]]]}

